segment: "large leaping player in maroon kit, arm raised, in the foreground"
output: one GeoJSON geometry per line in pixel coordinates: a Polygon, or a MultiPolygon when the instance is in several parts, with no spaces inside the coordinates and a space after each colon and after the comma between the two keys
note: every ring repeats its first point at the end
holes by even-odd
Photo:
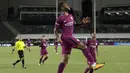
{"type": "MultiPolygon", "coordinates": [[[[96,62],[94,61],[92,55],[90,52],[87,50],[87,46],[85,46],[83,43],[81,43],[78,39],[76,39],[73,36],[73,30],[74,30],[74,18],[73,15],[68,13],[68,8],[65,8],[63,6],[64,3],[60,3],[61,11],[63,12],[62,15],[58,17],[55,23],[55,28],[54,28],[54,34],[56,35],[56,39],[60,39],[59,34],[58,34],[58,29],[60,28],[62,31],[61,35],[61,40],[62,40],[62,45],[64,47],[64,50],[62,50],[62,60],[61,63],[59,64],[59,68],[57,73],[63,73],[64,68],[66,64],[68,63],[69,56],[71,54],[71,49],[73,47],[80,49],[86,59],[90,62],[91,68],[94,68],[96,66],[96,62]]],[[[90,19],[87,17],[82,23],[87,24],[90,22],[90,19]]]]}

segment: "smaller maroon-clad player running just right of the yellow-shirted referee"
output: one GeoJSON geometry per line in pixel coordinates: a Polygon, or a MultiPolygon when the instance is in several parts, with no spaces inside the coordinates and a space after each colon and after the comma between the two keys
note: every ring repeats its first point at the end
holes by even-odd
{"type": "Polygon", "coordinates": [[[45,36],[42,36],[41,44],[39,47],[41,47],[41,50],[40,50],[41,56],[40,56],[40,60],[39,60],[39,65],[41,65],[41,64],[44,64],[44,62],[48,59],[47,39],[45,38],[45,36]]]}

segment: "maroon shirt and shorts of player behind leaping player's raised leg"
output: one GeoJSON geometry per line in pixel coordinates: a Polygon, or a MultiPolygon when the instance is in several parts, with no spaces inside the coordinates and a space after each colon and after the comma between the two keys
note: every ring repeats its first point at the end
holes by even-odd
{"type": "Polygon", "coordinates": [[[98,41],[90,39],[86,43],[88,47],[88,51],[91,53],[91,55],[94,58],[94,61],[96,62],[96,51],[98,50],[98,41]]]}

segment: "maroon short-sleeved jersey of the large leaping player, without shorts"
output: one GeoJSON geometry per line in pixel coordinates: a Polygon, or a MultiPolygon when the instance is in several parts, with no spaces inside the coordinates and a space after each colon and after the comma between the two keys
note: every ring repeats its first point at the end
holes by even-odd
{"type": "Polygon", "coordinates": [[[70,36],[74,30],[74,18],[71,14],[62,14],[58,17],[55,23],[55,28],[61,28],[62,36],[70,36]]]}

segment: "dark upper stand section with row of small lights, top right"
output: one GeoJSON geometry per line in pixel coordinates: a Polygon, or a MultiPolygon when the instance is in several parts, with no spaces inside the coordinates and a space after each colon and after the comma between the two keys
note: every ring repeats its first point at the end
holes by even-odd
{"type": "Polygon", "coordinates": [[[130,6],[103,7],[100,19],[105,24],[129,24],[130,6]]]}

